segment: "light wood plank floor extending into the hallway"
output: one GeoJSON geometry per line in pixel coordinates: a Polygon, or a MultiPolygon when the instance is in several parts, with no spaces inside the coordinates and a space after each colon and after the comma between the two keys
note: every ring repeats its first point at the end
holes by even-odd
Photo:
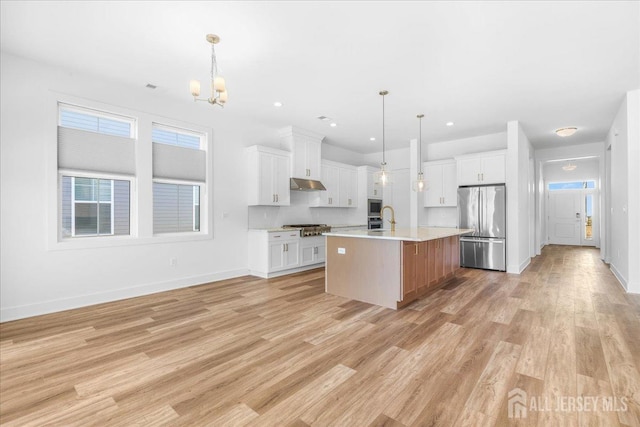
{"type": "Polygon", "coordinates": [[[323,290],[242,277],[4,323],[0,423],[640,425],[640,297],[595,249],[465,269],[397,312],[323,290]],[[509,419],[516,387],[548,410],[509,419]]]}

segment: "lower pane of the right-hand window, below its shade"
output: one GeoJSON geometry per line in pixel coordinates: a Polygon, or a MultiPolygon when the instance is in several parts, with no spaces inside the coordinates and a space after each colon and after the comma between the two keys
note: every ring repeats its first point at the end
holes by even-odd
{"type": "Polygon", "coordinates": [[[153,183],[153,232],[200,231],[200,186],[153,183]]]}

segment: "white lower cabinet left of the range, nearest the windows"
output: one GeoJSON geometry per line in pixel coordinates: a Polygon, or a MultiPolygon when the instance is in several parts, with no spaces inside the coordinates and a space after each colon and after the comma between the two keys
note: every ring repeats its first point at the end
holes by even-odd
{"type": "Polygon", "coordinates": [[[249,230],[249,270],[260,277],[300,267],[299,230],[249,230]]]}

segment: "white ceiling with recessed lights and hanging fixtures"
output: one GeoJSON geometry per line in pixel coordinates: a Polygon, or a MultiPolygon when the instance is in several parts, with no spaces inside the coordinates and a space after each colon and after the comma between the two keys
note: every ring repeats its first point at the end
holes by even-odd
{"type": "Polygon", "coordinates": [[[603,141],[640,87],[640,2],[2,1],[1,49],[193,102],[207,33],[229,102],[210,109],[294,125],[362,153],[506,130],[533,145],[603,141]],[[284,106],[273,107],[274,101],[284,106]],[[317,119],[328,116],[337,127],[317,119]],[[447,121],[455,122],[452,127],[447,121]],[[577,126],[569,138],[553,133],[577,126]],[[376,137],[376,142],[369,141],[376,137]]]}

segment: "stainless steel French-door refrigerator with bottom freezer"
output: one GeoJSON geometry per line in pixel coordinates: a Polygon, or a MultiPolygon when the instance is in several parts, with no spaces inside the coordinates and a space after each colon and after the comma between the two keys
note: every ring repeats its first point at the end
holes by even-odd
{"type": "Polygon", "coordinates": [[[460,237],[460,265],[506,271],[506,188],[458,188],[458,226],[473,233],[460,237]]]}

